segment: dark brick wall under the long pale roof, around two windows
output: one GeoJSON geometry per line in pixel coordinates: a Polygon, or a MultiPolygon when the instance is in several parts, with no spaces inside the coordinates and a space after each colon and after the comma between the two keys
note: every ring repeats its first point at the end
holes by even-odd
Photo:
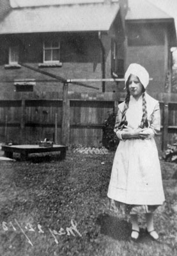
{"type": "MultiPolygon", "coordinates": [[[[51,79],[33,70],[21,67],[18,69],[5,69],[8,63],[8,47],[13,44],[20,45],[20,62],[38,68],[38,63],[43,62],[43,39],[59,38],[61,41],[61,67],[40,68],[65,79],[73,78],[102,78],[101,48],[98,33],[67,33],[67,34],[38,34],[38,35],[8,35],[2,36],[0,40],[0,79],[10,81],[13,79],[51,79]]],[[[108,38],[108,35],[106,36],[108,38]]],[[[110,45],[107,45],[109,48],[110,45]]],[[[107,50],[110,51],[109,49],[107,50]]],[[[110,61],[107,58],[107,61],[110,61]]],[[[63,86],[59,83],[36,83],[35,90],[58,91],[63,86]]],[[[88,83],[102,90],[102,83],[88,83]]],[[[2,90],[14,90],[12,84],[3,84],[2,90]]],[[[82,86],[70,85],[69,90],[75,92],[86,92],[89,89],[82,86]],[[73,89],[74,88],[74,89],[73,89]]]]}

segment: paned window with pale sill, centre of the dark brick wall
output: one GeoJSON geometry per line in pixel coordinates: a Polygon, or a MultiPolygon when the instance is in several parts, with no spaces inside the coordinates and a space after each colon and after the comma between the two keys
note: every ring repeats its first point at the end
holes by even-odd
{"type": "Polygon", "coordinates": [[[60,59],[60,42],[47,40],[43,43],[43,63],[58,63],[60,59]]]}

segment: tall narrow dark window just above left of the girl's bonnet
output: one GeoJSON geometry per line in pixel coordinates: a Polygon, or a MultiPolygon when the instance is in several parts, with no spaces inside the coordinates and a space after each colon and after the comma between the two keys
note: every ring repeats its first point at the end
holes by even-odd
{"type": "Polygon", "coordinates": [[[111,61],[111,75],[116,78],[122,78],[124,76],[124,61],[121,47],[115,40],[112,40],[112,61],[111,61]]]}

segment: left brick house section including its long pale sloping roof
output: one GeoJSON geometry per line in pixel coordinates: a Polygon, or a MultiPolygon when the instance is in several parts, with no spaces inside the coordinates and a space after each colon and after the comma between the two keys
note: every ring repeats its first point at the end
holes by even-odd
{"type": "MultiPolygon", "coordinates": [[[[118,58],[117,49],[125,40],[126,1],[36,2],[6,0],[9,9],[0,22],[1,80],[36,79],[36,90],[56,90],[56,83],[45,83],[49,77],[19,63],[66,79],[123,76],[124,55],[118,58]]],[[[104,83],[96,87],[105,90],[104,83]]],[[[12,90],[13,84],[6,88],[12,90]]]]}

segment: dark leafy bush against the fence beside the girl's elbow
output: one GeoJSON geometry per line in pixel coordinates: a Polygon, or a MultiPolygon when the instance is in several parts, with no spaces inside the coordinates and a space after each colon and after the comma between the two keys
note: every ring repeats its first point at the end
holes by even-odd
{"type": "Polygon", "coordinates": [[[116,121],[116,114],[110,113],[105,119],[103,127],[103,145],[109,150],[116,150],[119,144],[118,137],[114,132],[114,125],[116,121]]]}

